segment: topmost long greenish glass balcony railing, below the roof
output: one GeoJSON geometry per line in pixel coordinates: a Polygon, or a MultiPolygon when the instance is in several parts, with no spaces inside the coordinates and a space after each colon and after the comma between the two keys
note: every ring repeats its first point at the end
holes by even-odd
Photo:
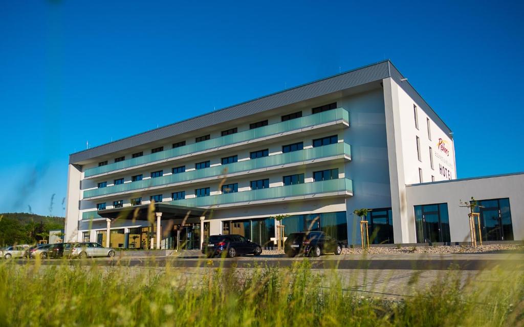
{"type": "Polygon", "coordinates": [[[243,132],[238,132],[235,134],[226,135],[220,138],[211,139],[199,143],[188,144],[180,146],[179,148],[169,149],[162,152],[152,153],[148,155],[143,155],[137,158],[124,160],[121,162],[115,162],[100,167],[93,167],[86,169],[84,171],[84,177],[90,177],[94,175],[99,175],[107,172],[112,172],[116,170],[121,170],[124,168],[129,168],[133,166],[143,165],[155,161],[166,160],[173,157],[200,152],[204,150],[210,150],[214,148],[219,148],[220,146],[230,145],[234,143],[239,143],[248,140],[254,140],[259,138],[268,137],[271,135],[289,132],[293,130],[299,130],[305,127],[311,127],[315,125],[320,125],[326,122],[332,122],[337,120],[344,120],[346,122],[350,121],[350,114],[344,108],[336,108],[329,111],[320,112],[319,114],[304,116],[297,119],[287,120],[271,124],[268,126],[250,129],[243,132]]]}

